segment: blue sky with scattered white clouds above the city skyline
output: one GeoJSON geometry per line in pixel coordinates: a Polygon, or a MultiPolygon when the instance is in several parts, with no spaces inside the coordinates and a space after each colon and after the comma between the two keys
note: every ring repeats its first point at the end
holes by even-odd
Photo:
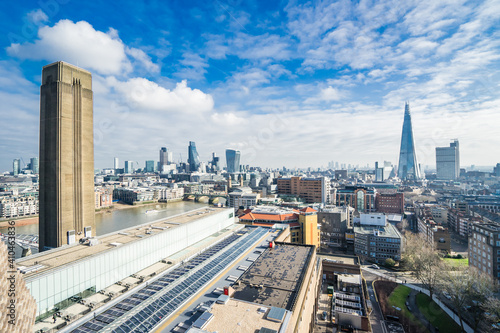
{"type": "Polygon", "coordinates": [[[397,163],[458,138],[500,162],[500,1],[23,1],[0,13],[0,170],[38,155],[42,66],[92,72],[96,168],[158,160],[397,163]]]}

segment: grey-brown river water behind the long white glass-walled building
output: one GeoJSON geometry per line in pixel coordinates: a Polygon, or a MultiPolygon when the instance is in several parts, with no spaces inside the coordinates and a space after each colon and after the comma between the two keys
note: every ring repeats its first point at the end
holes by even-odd
{"type": "MultiPolygon", "coordinates": [[[[97,236],[101,236],[206,206],[206,203],[177,201],[168,204],[158,203],[156,205],[117,209],[109,213],[100,212],[95,215],[96,233],[97,236]],[[148,210],[155,210],[156,212],[146,214],[148,210]]],[[[0,228],[0,233],[7,233],[7,227],[0,228]]],[[[16,226],[16,234],[38,235],[38,223],[16,226]]]]}

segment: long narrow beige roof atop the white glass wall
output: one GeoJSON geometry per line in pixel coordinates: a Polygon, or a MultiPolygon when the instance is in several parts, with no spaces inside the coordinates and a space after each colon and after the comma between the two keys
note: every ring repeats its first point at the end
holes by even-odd
{"type": "Polygon", "coordinates": [[[38,274],[42,274],[47,270],[61,267],[77,260],[112,250],[117,246],[136,242],[141,239],[151,237],[154,234],[165,232],[169,229],[176,228],[181,224],[190,223],[206,216],[215,215],[224,209],[225,208],[210,207],[192,210],[180,215],[159,219],[132,228],[98,236],[96,238],[99,240],[99,244],[94,246],[85,244],[62,246],[35,254],[33,256],[18,259],[16,263],[19,269],[28,270],[28,272],[24,274],[24,278],[30,278],[38,274]],[[29,271],[29,268],[34,266],[39,268],[29,271]]]}

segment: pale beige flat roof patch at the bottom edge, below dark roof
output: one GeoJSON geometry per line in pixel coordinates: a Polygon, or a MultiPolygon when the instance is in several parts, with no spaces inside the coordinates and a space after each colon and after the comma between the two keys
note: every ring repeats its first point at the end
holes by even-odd
{"type": "Polygon", "coordinates": [[[214,315],[203,329],[205,332],[254,332],[265,327],[279,331],[280,322],[267,319],[270,308],[260,304],[230,299],[226,304],[214,304],[210,312],[214,315]]]}

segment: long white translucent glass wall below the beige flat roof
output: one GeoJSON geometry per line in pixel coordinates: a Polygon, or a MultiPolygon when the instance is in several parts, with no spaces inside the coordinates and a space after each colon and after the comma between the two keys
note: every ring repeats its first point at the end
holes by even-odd
{"type": "MultiPolygon", "coordinates": [[[[37,316],[86,289],[102,290],[234,223],[232,209],[27,277],[37,316]]],[[[57,251],[57,250],[55,250],[57,251]]],[[[17,262],[22,266],[22,259],[17,262]]]]}

